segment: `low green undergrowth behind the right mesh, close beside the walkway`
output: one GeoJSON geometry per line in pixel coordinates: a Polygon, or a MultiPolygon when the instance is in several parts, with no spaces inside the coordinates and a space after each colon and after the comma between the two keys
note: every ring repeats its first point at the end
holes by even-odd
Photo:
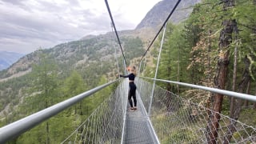
{"type": "MultiPolygon", "coordinates": [[[[186,107],[180,107],[177,111],[166,114],[164,110],[158,110],[156,117],[152,118],[156,133],[162,140],[161,143],[196,143],[193,134],[198,129],[198,124],[191,121],[186,107]],[[184,123],[180,123],[186,121],[184,123]],[[165,125],[170,123],[170,125],[165,125]]],[[[199,135],[198,135],[199,137],[199,135]]]]}

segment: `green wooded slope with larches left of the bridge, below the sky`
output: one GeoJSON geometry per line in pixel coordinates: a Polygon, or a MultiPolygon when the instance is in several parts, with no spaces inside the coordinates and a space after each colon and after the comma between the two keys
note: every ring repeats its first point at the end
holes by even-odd
{"type": "MultiPolygon", "coordinates": [[[[128,64],[142,55],[140,38],[122,36],[121,41],[128,64]]],[[[0,73],[1,126],[114,80],[118,73],[115,57],[122,70],[118,44],[112,34],[106,34],[37,50],[21,58],[0,73]]],[[[104,89],[86,98],[13,142],[61,142],[111,91],[104,89]]]]}

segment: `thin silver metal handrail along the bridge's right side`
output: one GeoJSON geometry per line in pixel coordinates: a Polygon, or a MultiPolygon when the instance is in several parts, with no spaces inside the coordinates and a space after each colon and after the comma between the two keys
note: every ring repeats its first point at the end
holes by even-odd
{"type": "MultiPolygon", "coordinates": [[[[146,77],[140,77],[140,78],[146,78],[146,77]]],[[[176,84],[176,85],[180,85],[180,86],[191,87],[191,88],[196,88],[196,89],[200,89],[200,90],[207,90],[207,91],[210,91],[210,92],[213,92],[213,93],[224,94],[224,95],[227,95],[227,96],[230,96],[230,97],[242,98],[242,99],[249,100],[251,102],[256,102],[255,95],[242,94],[242,93],[237,93],[237,92],[229,91],[229,90],[220,90],[220,89],[206,87],[206,86],[198,86],[198,85],[193,85],[193,84],[190,84],[190,83],[174,82],[174,81],[168,81],[168,80],[157,79],[157,78],[146,78],[146,79],[150,79],[150,80],[153,80],[153,81],[155,80],[155,81],[158,81],[158,82],[168,82],[168,83],[172,83],[172,84],[176,84]]]]}

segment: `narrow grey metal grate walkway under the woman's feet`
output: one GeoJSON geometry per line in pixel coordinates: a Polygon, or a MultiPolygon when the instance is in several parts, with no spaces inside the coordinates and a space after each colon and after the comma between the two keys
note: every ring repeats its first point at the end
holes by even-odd
{"type": "MultiPolygon", "coordinates": [[[[155,143],[152,137],[150,123],[146,116],[146,111],[142,106],[142,101],[137,93],[138,110],[126,112],[126,129],[124,143],[150,144],[155,143]]],[[[130,104],[127,105],[127,110],[130,109],[130,104]]]]}

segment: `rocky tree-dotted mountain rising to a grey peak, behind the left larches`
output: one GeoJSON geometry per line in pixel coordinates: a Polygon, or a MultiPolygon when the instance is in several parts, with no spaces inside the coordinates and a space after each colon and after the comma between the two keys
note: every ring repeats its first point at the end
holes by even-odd
{"type": "MultiPolygon", "coordinates": [[[[190,10],[193,2],[198,2],[198,0],[188,0],[187,2],[181,3],[180,6],[184,9],[178,9],[178,14],[189,14],[187,10],[190,10]],[[186,9],[187,7],[189,8],[186,9]]],[[[146,46],[154,37],[157,26],[166,19],[173,4],[174,1],[171,0],[159,2],[146,14],[146,17],[135,30],[118,31],[128,65],[130,63],[138,65],[139,58],[142,57],[146,46]],[[171,5],[166,3],[171,3],[171,5]]],[[[185,16],[180,17],[180,15],[176,16],[175,21],[181,22],[186,18],[185,16]]],[[[26,103],[26,98],[35,98],[34,95],[41,94],[42,91],[33,91],[31,87],[38,80],[33,75],[34,66],[39,65],[44,56],[47,56],[50,62],[54,62],[58,66],[58,77],[61,81],[58,82],[59,86],[62,86],[63,81],[74,70],[81,74],[88,89],[98,86],[102,76],[106,76],[107,81],[115,79],[118,70],[115,57],[118,59],[120,70],[123,61],[121,50],[119,50],[117,40],[114,38],[115,35],[110,32],[101,35],[88,35],[77,41],[61,43],[50,49],[36,50],[22,58],[19,57],[18,62],[6,70],[0,71],[0,119],[8,116],[9,121],[14,121],[11,118],[18,119],[26,115],[14,111],[18,109],[21,103],[26,103]],[[117,54],[115,54],[115,50],[117,50],[117,54]]],[[[59,91],[60,94],[63,93],[62,89],[59,91]]],[[[32,113],[33,110],[27,111],[32,113]]]]}

